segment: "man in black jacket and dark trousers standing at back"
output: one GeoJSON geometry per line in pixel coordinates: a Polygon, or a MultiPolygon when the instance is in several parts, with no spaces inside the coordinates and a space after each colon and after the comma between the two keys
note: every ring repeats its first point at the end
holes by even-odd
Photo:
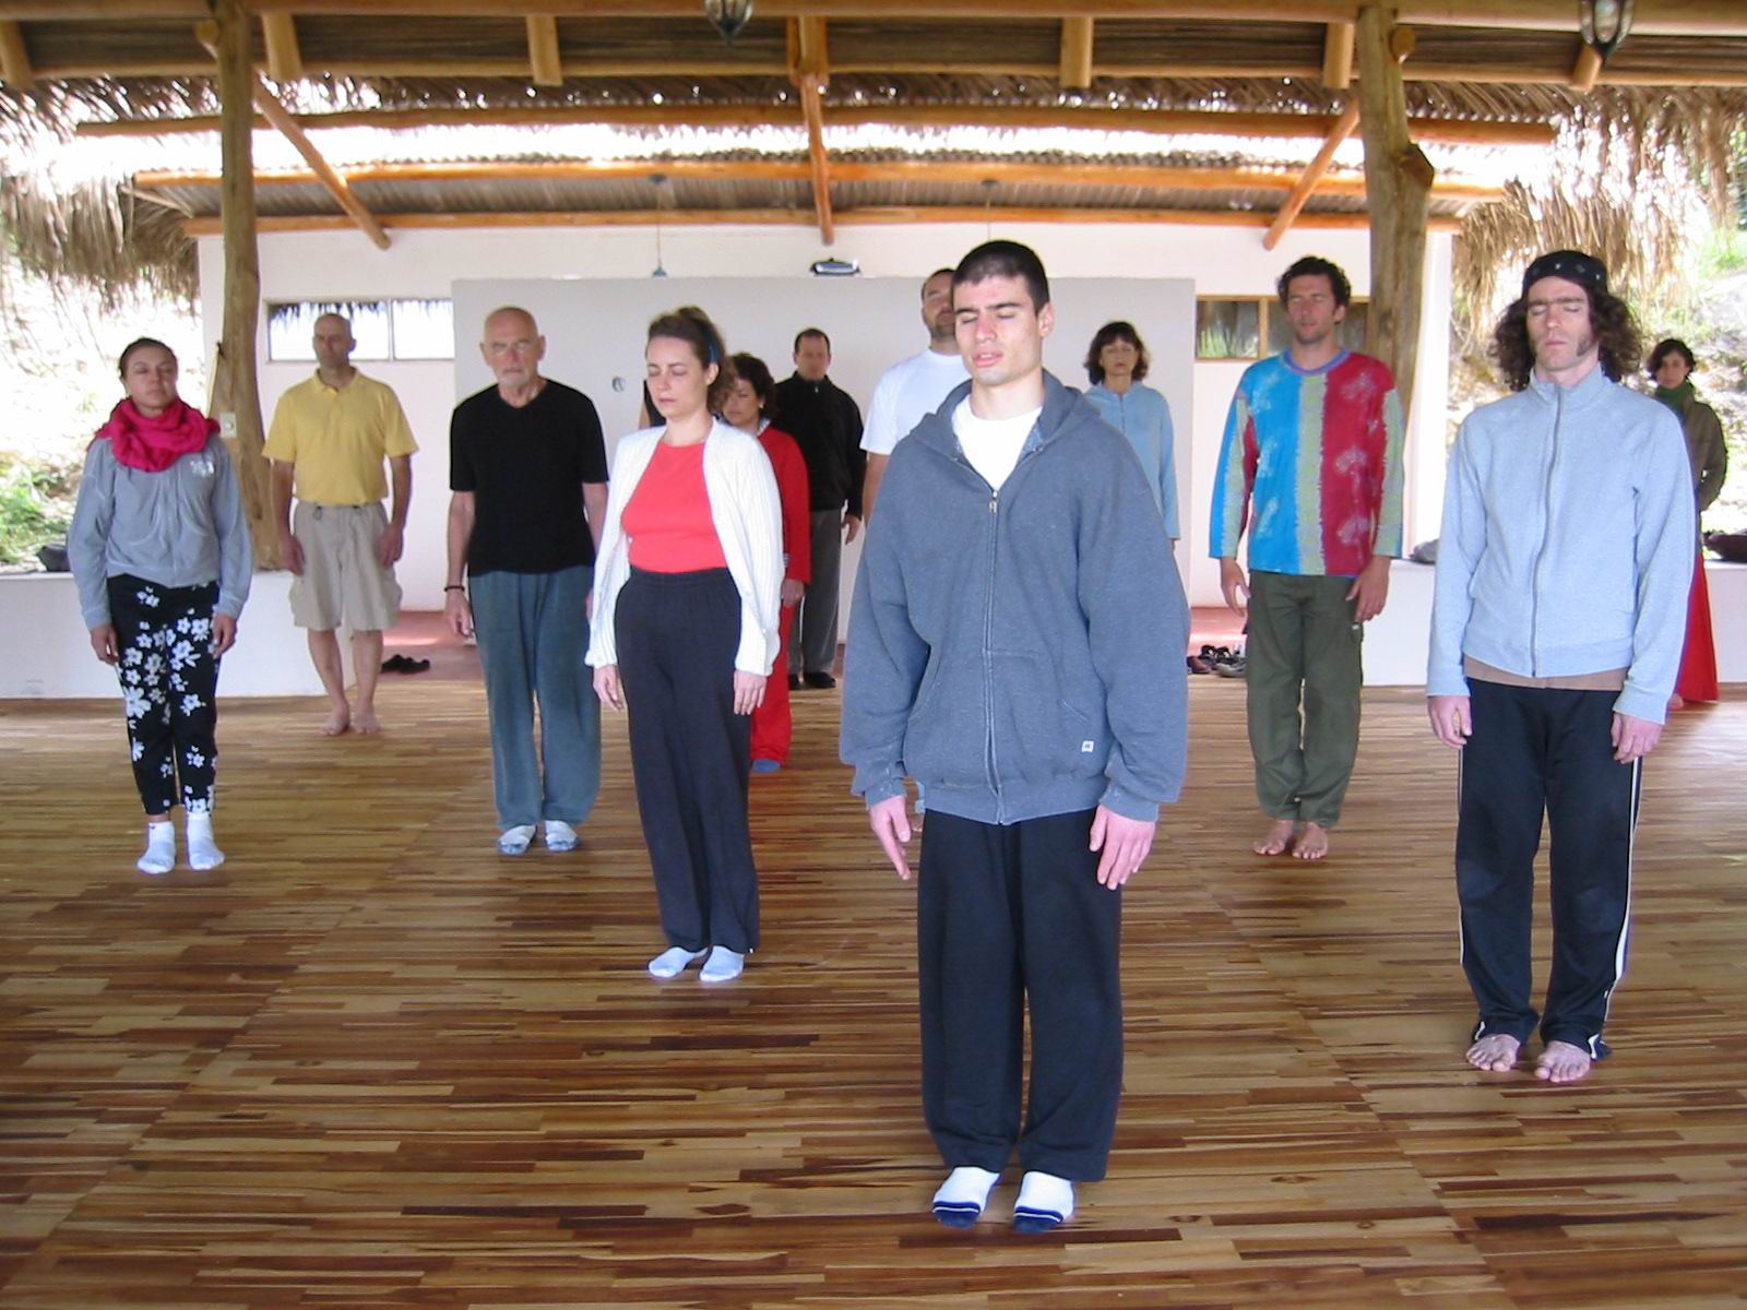
{"type": "Polygon", "coordinates": [[[777,383],[772,423],[800,445],[812,496],[812,582],[800,603],[800,636],[788,648],[788,685],[837,686],[837,585],[844,543],[861,529],[861,409],[826,372],[832,339],[795,337],[795,376],[777,383]]]}

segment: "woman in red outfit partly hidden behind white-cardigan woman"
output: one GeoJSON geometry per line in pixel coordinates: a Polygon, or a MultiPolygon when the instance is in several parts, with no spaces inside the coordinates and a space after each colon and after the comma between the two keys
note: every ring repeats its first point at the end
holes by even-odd
{"type": "Polygon", "coordinates": [[[765,412],[776,395],[776,379],[756,355],[734,356],[734,384],[722,403],[722,417],[749,431],[770,456],[776,489],[783,500],[783,650],[776,672],[765,683],[765,699],[753,711],[753,772],[774,774],[788,763],[788,744],[795,718],[788,704],[788,643],[795,627],[795,606],[812,578],[812,521],[809,517],[807,461],[800,445],[781,428],[772,428],[765,412]]]}

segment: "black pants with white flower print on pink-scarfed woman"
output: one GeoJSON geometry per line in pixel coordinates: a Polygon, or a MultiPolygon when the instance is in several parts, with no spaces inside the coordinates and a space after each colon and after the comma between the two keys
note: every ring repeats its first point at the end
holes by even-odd
{"type": "Polygon", "coordinates": [[[108,597],[133,781],[145,812],[168,814],[180,781],[182,807],[206,814],[218,763],[218,660],[211,648],[218,583],[159,587],[121,573],[108,580],[108,597]]]}

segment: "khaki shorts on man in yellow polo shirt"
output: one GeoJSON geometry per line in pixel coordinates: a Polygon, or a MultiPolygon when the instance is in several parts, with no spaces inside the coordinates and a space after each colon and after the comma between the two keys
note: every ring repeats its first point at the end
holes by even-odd
{"type": "Polygon", "coordinates": [[[400,618],[395,571],[376,562],[388,514],[374,505],[297,501],[292,534],[304,548],[304,571],[292,580],[292,622],[330,632],[379,632],[400,618]]]}

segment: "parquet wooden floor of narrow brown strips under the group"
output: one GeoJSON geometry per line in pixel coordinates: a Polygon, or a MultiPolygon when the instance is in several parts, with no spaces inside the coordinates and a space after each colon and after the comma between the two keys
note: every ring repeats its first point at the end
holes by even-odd
{"type": "Polygon", "coordinates": [[[475,686],[384,686],[376,739],[227,702],[231,861],[152,880],[115,707],[0,707],[0,1305],[1747,1305],[1747,692],[1651,762],[1616,1055],[1571,1090],[1460,1062],[1422,700],[1366,693],[1322,866],[1246,852],[1242,685],[1191,704],[1111,1176],[1041,1238],[926,1216],[914,884],[835,693],[755,781],[765,948],[722,990],[643,973],[622,721],[583,849],[512,861],[475,686]]]}

